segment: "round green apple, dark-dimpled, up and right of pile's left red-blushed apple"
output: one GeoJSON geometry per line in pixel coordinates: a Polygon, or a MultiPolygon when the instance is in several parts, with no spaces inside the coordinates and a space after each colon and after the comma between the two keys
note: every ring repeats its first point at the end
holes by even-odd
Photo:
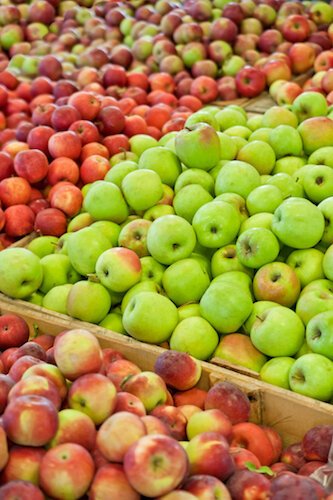
{"type": "Polygon", "coordinates": [[[147,234],[149,253],[159,263],[170,265],[191,255],[196,244],[193,227],[178,215],[154,220],[147,234]]]}

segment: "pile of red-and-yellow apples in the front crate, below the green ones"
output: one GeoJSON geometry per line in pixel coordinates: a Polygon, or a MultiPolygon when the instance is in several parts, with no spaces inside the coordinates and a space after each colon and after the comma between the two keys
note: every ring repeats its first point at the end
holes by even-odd
{"type": "Polygon", "coordinates": [[[1,498],[332,498],[310,477],[332,425],[283,448],[235,384],[197,387],[186,353],[163,352],[152,372],[85,329],[28,339],[22,317],[0,316],[1,498]]]}

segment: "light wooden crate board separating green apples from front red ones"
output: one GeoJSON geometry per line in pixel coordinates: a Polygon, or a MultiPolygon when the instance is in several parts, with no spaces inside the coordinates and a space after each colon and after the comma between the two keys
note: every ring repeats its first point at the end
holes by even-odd
{"type": "MultiPolygon", "coordinates": [[[[99,326],[70,319],[51,311],[47,312],[39,306],[21,300],[9,299],[2,294],[0,294],[0,313],[22,316],[28,322],[32,333],[36,328],[40,333],[51,335],[72,328],[86,328],[96,335],[102,347],[119,350],[144,370],[152,370],[156,358],[164,351],[161,347],[137,342],[99,326]]],[[[223,380],[235,383],[249,396],[251,420],[275,428],[285,444],[299,441],[304,433],[315,425],[333,425],[332,405],[271,386],[242,373],[202,362],[199,387],[208,390],[214,383],[223,380]]]]}

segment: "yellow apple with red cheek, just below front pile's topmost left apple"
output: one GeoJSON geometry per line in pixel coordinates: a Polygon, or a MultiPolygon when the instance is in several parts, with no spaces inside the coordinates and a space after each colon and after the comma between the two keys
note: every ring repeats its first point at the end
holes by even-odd
{"type": "Polygon", "coordinates": [[[116,387],[101,373],[88,373],[77,378],[68,391],[68,406],[88,415],[100,425],[116,405],[116,387]]]}

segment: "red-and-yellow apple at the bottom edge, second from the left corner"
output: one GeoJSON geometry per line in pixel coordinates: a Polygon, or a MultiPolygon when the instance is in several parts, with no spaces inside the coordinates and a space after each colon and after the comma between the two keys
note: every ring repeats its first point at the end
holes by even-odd
{"type": "Polygon", "coordinates": [[[40,486],[51,497],[80,498],[87,492],[94,470],[94,461],[83,446],[76,443],[59,444],[48,450],[42,458],[40,486]]]}

